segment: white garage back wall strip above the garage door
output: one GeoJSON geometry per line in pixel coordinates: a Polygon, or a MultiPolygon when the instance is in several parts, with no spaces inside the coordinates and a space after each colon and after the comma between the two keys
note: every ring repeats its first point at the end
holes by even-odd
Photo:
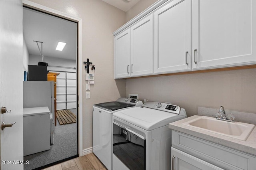
{"type": "MultiPolygon", "coordinates": [[[[38,65],[39,61],[42,61],[40,55],[29,55],[29,65],[38,65]]],[[[48,63],[49,67],[47,69],[51,70],[51,71],[76,72],[76,69],[50,67],[50,66],[76,67],[76,60],[62,59],[62,58],[55,58],[55,57],[45,57],[44,56],[44,61],[43,62],[48,63]]]]}

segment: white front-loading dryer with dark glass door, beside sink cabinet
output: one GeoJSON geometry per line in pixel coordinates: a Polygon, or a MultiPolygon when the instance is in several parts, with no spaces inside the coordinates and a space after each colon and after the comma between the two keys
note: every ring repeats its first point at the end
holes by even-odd
{"type": "Polygon", "coordinates": [[[171,129],[186,118],[176,105],[146,102],[113,114],[113,170],[170,170],[171,129]]]}

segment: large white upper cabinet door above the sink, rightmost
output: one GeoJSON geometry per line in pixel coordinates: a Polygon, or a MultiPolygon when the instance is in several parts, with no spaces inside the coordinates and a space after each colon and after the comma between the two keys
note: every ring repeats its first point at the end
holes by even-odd
{"type": "Polygon", "coordinates": [[[193,69],[256,61],[256,1],[193,0],[193,69]]]}

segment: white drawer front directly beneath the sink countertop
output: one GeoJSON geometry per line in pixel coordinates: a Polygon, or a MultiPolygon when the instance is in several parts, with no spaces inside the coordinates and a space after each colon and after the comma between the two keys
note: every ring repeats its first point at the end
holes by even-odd
{"type": "Polygon", "coordinates": [[[226,170],[255,170],[256,157],[172,130],[172,147],[226,170]]]}

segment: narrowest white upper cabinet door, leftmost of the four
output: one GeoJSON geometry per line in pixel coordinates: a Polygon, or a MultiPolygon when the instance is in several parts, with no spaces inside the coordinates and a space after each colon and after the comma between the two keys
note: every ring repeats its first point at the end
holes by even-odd
{"type": "Polygon", "coordinates": [[[131,72],[130,28],[115,37],[115,78],[130,77],[131,72]]]}

